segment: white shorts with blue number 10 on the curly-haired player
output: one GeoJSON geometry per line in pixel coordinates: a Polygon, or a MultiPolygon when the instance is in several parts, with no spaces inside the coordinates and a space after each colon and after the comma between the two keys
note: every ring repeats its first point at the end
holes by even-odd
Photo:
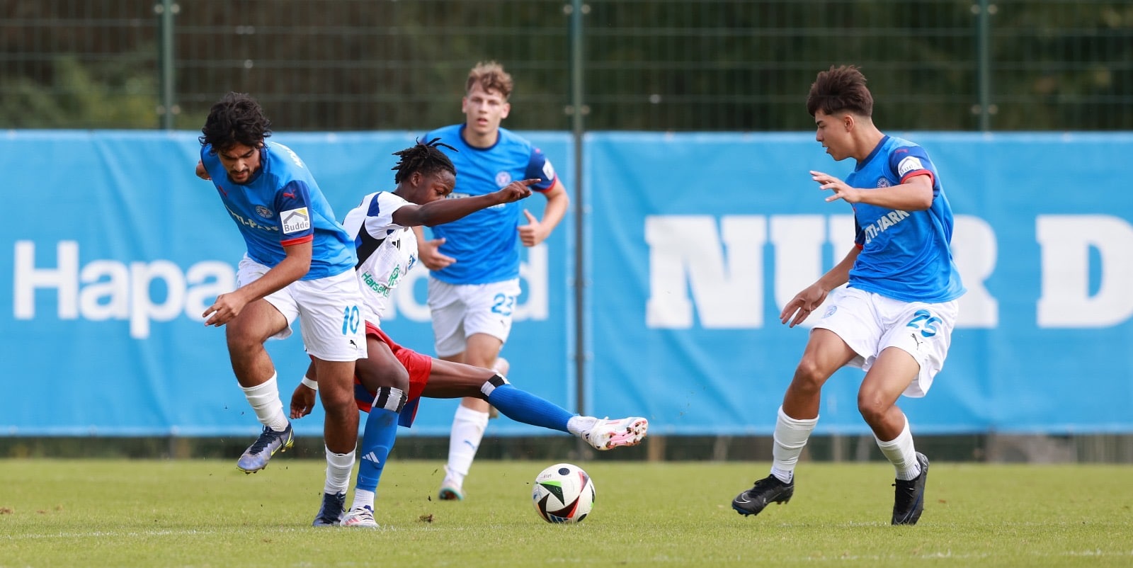
{"type": "MultiPolygon", "coordinates": [[[[237,266],[236,285],[254,282],[267,270],[245,255],[237,266]]],[[[264,299],[287,317],[287,328],[273,339],[291,337],[291,323],[299,317],[299,333],[309,355],[323,361],[366,358],[363,297],[352,270],[316,280],[296,280],[264,299]]]]}

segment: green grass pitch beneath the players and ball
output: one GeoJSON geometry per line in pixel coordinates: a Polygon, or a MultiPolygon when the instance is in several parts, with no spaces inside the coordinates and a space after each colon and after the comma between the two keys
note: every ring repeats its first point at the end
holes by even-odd
{"type": "MultiPolygon", "coordinates": [[[[578,525],[530,502],[550,463],[480,460],[441,502],[440,461],[390,463],[378,529],[312,528],[324,464],[0,460],[0,567],[1106,567],[1133,566],[1133,468],[934,463],[917,526],[888,525],[888,464],[803,463],[756,517],[731,499],[766,463],[580,463],[578,525]]],[[[349,503],[349,501],[348,501],[349,503]]]]}

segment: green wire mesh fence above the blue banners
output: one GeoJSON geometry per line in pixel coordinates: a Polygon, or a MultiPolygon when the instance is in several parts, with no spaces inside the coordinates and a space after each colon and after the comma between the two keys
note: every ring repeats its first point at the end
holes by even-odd
{"type": "Polygon", "coordinates": [[[423,129],[495,59],[517,129],[810,129],[841,63],[892,129],[1133,129],[1127,1],[0,0],[0,42],[3,128],[195,129],[244,91],[278,129],[423,129]]]}

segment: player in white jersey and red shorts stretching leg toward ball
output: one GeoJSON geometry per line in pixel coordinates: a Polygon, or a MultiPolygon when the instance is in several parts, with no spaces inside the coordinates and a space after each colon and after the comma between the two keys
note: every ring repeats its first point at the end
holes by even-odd
{"type": "MultiPolygon", "coordinates": [[[[440,151],[437,141],[418,143],[398,152],[401,160],[397,189],[367,195],[347,213],[343,226],[356,235],[356,273],[366,304],[366,340],[369,357],[356,367],[355,398],[369,413],[359,455],[353,505],[342,518],[342,508],[320,511],[316,524],[340,522],[343,526],[374,527],[374,497],[393,448],[397,427],[412,424],[420,397],[476,397],[494,404],[518,421],[578,435],[599,450],[634,446],[645,436],[648,422],[640,417],[599,419],[578,416],[513,387],[494,371],[461,363],[433,359],[395,344],[380,329],[390,294],[417,263],[416,236],[409,227],[451,221],[470,212],[531,195],[537,179],[513,181],[503,189],[466,200],[445,200],[455,170],[440,151]],[[408,405],[408,406],[407,406],[408,405]]],[[[310,413],[318,387],[315,370],[291,397],[291,417],[310,413]]]]}

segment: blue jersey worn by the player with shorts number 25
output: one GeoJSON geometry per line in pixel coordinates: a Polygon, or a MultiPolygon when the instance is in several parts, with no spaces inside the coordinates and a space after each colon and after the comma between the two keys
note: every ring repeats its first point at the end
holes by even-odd
{"type": "Polygon", "coordinates": [[[885,136],[845,183],[860,188],[891,187],[925,173],[932,177],[932,205],[925,211],[853,204],[854,243],[861,253],[850,269],[850,287],[934,304],[964,294],[949,248],[952,206],[925,149],[885,136]]]}

